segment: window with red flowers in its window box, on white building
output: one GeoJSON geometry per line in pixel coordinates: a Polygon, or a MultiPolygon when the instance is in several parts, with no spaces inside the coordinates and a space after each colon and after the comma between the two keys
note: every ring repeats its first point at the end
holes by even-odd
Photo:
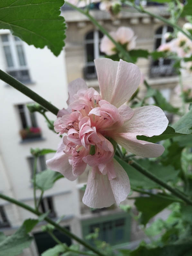
{"type": "Polygon", "coordinates": [[[17,105],[21,130],[20,135],[23,140],[41,137],[41,129],[37,125],[35,113],[31,113],[24,104],[17,105]]]}

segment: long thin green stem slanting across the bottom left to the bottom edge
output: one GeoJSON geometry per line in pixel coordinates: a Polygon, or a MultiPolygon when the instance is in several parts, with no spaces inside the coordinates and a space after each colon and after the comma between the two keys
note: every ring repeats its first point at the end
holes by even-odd
{"type": "MultiPolygon", "coordinates": [[[[8,197],[8,196],[5,196],[3,194],[0,193],[0,198],[8,201],[8,202],[11,202],[15,205],[18,205],[32,213],[34,213],[35,215],[37,216],[40,216],[42,215],[41,212],[39,212],[38,210],[35,210],[34,208],[32,208],[31,206],[28,206],[14,198],[11,198],[11,197],[8,197]]],[[[95,247],[91,246],[90,244],[88,244],[87,242],[83,241],[82,239],[80,239],[78,236],[76,236],[75,234],[71,233],[68,229],[64,228],[64,227],[61,227],[59,224],[57,224],[56,222],[54,222],[53,220],[51,220],[49,217],[45,217],[45,221],[52,224],[55,228],[57,228],[60,232],[66,234],[67,236],[69,236],[70,238],[76,240],[77,242],[79,242],[80,244],[82,244],[83,246],[85,246],[87,249],[95,252],[97,255],[100,255],[100,256],[106,256],[105,254],[103,254],[102,252],[98,251],[95,247]]]]}

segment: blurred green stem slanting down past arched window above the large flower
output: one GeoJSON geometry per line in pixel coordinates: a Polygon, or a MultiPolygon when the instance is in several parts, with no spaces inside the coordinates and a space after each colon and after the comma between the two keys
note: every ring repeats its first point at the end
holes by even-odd
{"type": "Polygon", "coordinates": [[[123,46],[116,42],[113,37],[105,30],[105,28],[103,26],[101,26],[97,21],[96,19],[90,15],[87,11],[84,11],[83,9],[81,8],[78,8],[77,6],[75,5],[72,5],[71,3],[65,1],[65,3],[67,5],[69,5],[70,7],[72,7],[73,9],[77,10],[78,12],[84,14],[85,16],[87,16],[87,18],[94,24],[97,26],[97,28],[103,33],[105,34],[115,45],[116,49],[119,50],[122,54],[123,54],[123,59],[126,60],[127,62],[133,62],[130,54],[128,53],[128,51],[126,51],[123,46]]]}

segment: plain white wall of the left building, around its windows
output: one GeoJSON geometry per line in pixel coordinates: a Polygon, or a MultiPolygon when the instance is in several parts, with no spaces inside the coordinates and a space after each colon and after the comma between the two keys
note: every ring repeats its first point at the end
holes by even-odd
{"type": "MultiPolygon", "coordinates": [[[[5,32],[7,33],[8,31],[0,31],[0,33],[5,32]]],[[[23,42],[23,48],[33,82],[27,86],[58,108],[67,107],[68,89],[64,51],[58,57],[55,57],[47,48],[36,49],[25,42],[23,42]]],[[[1,43],[0,69],[6,71],[5,56],[1,43]]],[[[30,148],[57,149],[60,137],[50,131],[47,128],[44,117],[36,113],[37,123],[41,127],[44,140],[21,143],[22,139],[19,135],[21,123],[16,105],[29,102],[32,102],[30,98],[0,80],[0,151],[2,158],[0,161],[0,190],[5,194],[12,190],[12,196],[14,195],[19,200],[27,200],[28,203],[32,204],[33,188],[30,182],[31,172],[27,161],[27,157],[30,156],[30,148]],[[4,162],[4,169],[2,161],[4,162]],[[9,179],[7,179],[5,173],[9,179]]],[[[52,120],[56,119],[56,116],[51,113],[47,115],[52,120]]],[[[52,156],[53,154],[49,154],[46,159],[52,156]]],[[[40,191],[37,191],[37,196],[39,194],[40,191]]],[[[71,182],[65,178],[60,179],[52,189],[45,192],[45,196],[50,195],[55,195],[54,205],[59,216],[63,214],[79,214],[76,181],[71,182]],[[62,194],[66,191],[69,193],[62,194]],[[57,198],[58,194],[60,196],[57,198]]],[[[8,215],[10,215],[11,210],[8,207],[5,206],[9,212],[8,215]]],[[[20,210],[21,220],[27,217],[32,217],[32,215],[25,210],[20,210]]],[[[12,225],[14,223],[15,225],[18,224],[18,221],[11,222],[12,225]]]]}

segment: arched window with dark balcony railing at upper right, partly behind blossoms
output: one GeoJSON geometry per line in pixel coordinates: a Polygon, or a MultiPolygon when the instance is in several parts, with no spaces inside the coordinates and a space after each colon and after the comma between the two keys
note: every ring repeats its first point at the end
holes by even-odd
{"type": "MultiPolygon", "coordinates": [[[[165,39],[165,33],[173,32],[173,28],[170,26],[162,26],[157,29],[155,33],[155,50],[159,48],[161,44],[168,42],[165,39]]],[[[152,61],[150,69],[150,77],[167,77],[175,75],[175,70],[173,67],[174,60],[160,58],[158,60],[152,61]]]]}

